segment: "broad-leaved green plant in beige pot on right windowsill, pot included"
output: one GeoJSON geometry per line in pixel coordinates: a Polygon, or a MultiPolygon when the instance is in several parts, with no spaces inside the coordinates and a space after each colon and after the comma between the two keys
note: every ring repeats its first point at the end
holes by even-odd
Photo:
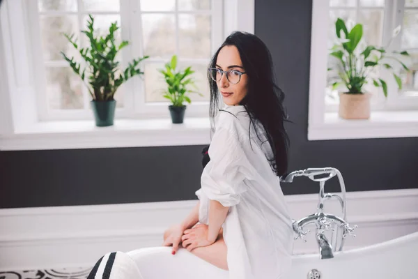
{"type": "MultiPolygon", "coordinates": [[[[359,44],[363,36],[362,24],[355,24],[353,29],[348,31],[344,20],[338,18],[335,22],[335,31],[338,42],[332,47],[330,55],[336,57],[338,61],[336,70],[339,77],[332,80],[332,89],[336,89],[341,84],[346,89],[346,91],[339,92],[339,116],[343,119],[369,119],[371,93],[364,90],[364,85],[373,82],[374,86],[381,86],[385,98],[387,97],[387,82],[382,78],[372,77],[373,68],[384,66],[389,70],[394,70],[389,64],[389,61],[394,60],[409,71],[405,63],[399,59],[399,56],[409,56],[408,52],[392,52],[392,55],[389,56],[385,50],[401,31],[401,27],[394,29],[392,39],[389,40],[387,47],[359,44]],[[365,47],[359,50],[357,48],[359,45],[365,47]]],[[[334,69],[329,68],[328,70],[334,69]]],[[[401,78],[394,71],[392,71],[392,75],[398,88],[402,89],[401,78]]]]}

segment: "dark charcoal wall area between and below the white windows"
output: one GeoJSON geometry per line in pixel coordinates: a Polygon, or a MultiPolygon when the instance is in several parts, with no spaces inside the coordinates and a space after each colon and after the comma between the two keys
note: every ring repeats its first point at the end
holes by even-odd
{"type": "MultiPolygon", "coordinates": [[[[311,1],[256,0],[291,120],[290,170],[336,167],[348,191],[418,188],[418,139],[307,140],[311,1]]],[[[0,208],[196,199],[203,146],[0,152],[0,208]]],[[[326,190],[338,190],[336,178],[326,190]]],[[[284,193],[318,193],[295,179],[284,193]]]]}

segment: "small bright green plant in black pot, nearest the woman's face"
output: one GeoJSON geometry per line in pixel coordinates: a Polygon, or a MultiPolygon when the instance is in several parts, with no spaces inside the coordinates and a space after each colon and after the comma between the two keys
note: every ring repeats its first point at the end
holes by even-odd
{"type": "Polygon", "coordinates": [[[189,93],[198,93],[199,96],[203,94],[190,90],[190,86],[197,90],[194,79],[189,77],[194,73],[192,67],[187,67],[185,70],[177,70],[177,56],[171,57],[170,63],[165,64],[165,69],[160,69],[159,72],[164,75],[164,80],[167,83],[167,90],[163,91],[164,98],[171,101],[169,110],[171,114],[172,123],[183,123],[186,106],[184,102],[192,103],[189,93]]]}

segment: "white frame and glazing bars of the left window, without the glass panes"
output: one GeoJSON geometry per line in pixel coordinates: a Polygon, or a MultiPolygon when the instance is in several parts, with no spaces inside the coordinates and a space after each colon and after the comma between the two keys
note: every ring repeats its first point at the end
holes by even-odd
{"type": "MultiPolygon", "coordinates": [[[[79,2],[79,7],[81,8],[80,2],[82,0],[77,0],[79,2]]],[[[89,110],[89,102],[91,100],[86,88],[83,86],[83,99],[84,99],[84,108],[79,110],[49,110],[46,96],[46,84],[45,84],[45,61],[43,57],[37,55],[42,53],[42,43],[40,41],[40,14],[45,15],[77,15],[79,29],[82,29],[82,16],[91,13],[93,15],[120,15],[121,22],[121,37],[122,40],[129,40],[130,46],[125,47],[122,50],[123,61],[121,67],[124,68],[127,66],[127,61],[131,61],[134,57],[144,56],[143,45],[142,45],[142,30],[141,30],[141,15],[147,13],[159,13],[159,14],[171,14],[178,17],[178,1],[176,1],[176,9],[169,12],[157,12],[157,11],[141,11],[139,8],[139,1],[134,0],[120,0],[121,7],[119,12],[112,11],[84,11],[77,10],[74,12],[45,12],[38,13],[38,3],[37,1],[26,0],[28,3],[28,13],[29,26],[31,30],[29,31],[31,45],[31,59],[33,59],[33,65],[44,65],[38,70],[33,70],[34,81],[37,92],[37,101],[38,101],[38,114],[41,121],[59,121],[59,120],[80,120],[80,119],[91,119],[92,112],[89,110]],[[138,36],[132,36],[133,33],[139,34],[138,36]]],[[[224,33],[222,31],[223,27],[223,14],[222,0],[210,0],[211,10],[202,10],[202,11],[180,11],[181,14],[192,14],[192,15],[210,15],[211,18],[211,50],[212,53],[215,52],[216,47],[221,45],[224,33]],[[216,32],[219,30],[219,32],[216,32]]],[[[177,25],[178,25],[178,21],[177,25]]],[[[178,27],[178,26],[177,26],[178,27]]],[[[176,37],[178,36],[178,28],[176,28],[176,37]]],[[[77,36],[78,37],[78,36],[77,36]]],[[[177,45],[178,52],[178,45],[177,45]]],[[[167,62],[167,59],[155,59],[150,57],[142,63],[144,67],[146,63],[149,62],[167,62]]],[[[185,62],[196,62],[202,61],[208,63],[210,59],[182,59],[179,57],[179,61],[185,62]]],[[[49,64],[56,64],[56,66],[68,66],[66,61],[62,62],[53,62],[49,64]]],[[[159,117],[169,116],[169,110],[167,106],[169,102],[159,102],[159,103],[146,103],[145,101],[145,86],[144,86],[144,77],[133,77],[128,82],[123,84],[119,90],[123,90],[123,107],[116,108],[116,118],[129,118],[129,119],[153,119],[159,117]]],[[[117,92],[118,93],[118,92],[117,92]]],[[[116,93],[116,94],[117,94],[116,93]]],[[[201,102],[192,102],[192,104],[187,104],[187,116],[192,117],[202,117],[205,116],[208,112],[208,101],[201,102]]]]}

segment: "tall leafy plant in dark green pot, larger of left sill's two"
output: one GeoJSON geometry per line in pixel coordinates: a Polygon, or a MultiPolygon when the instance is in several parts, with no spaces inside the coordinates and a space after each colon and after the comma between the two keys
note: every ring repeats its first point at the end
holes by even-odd
{"type": "Polygon", "coordinates": [[[139,59],[133,59],[125,68],[119,72],[119,61],[116,60],[118,52],[129,43],[123,41],[119,45],[115,45],[114,33],[119,29],[117,22],[111,23],[109,33],[104,36],[95,36],[93,27],[94,18],[89,15],[90,20],[87,21],[88,30],[82,31],[88,40],[88,47],[77,45],[77,40],[73,40],[74,34],[71,36],[64,34],[70,43],[78,50],[79,54],[85,61],[85,67],[82,68],[81,63],[77,63],[72,57],[68,58],[63,52],[63,58],[70,63],[72,70],[82,78],[91,95],[91,107],[95,116],[96,126],[112,126],[114,124],[114,114],[116,109],[116,100],[114,95],[118,87],[126,82],[134,75],[143,75],[139,68],[139,63],[147,59],[144,56],[139,59]]]}

